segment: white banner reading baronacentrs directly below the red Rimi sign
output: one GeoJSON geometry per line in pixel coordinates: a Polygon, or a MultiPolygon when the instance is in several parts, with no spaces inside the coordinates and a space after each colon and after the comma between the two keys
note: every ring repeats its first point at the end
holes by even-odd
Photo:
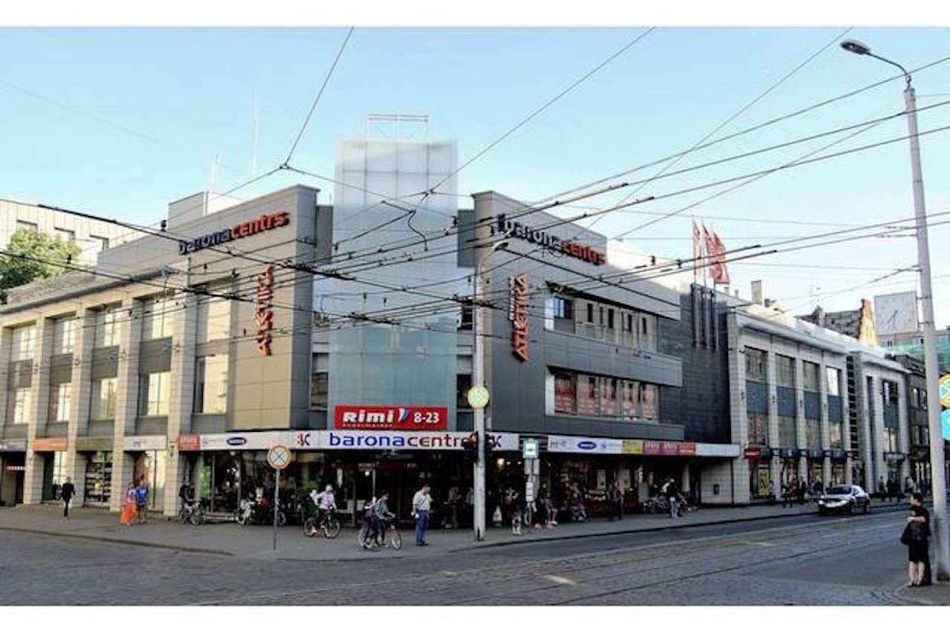
{"type": "MultiPolygon", "coordinates": [[[[491,433],[495,451],[517,452],[520,438],[517,433],[491,433]]],[[[287,445],[297,451],[357,450],[357,451],[461,451],[462,440],[471,436],[468,431],[298,431],[285,434],[287,445]]]]}

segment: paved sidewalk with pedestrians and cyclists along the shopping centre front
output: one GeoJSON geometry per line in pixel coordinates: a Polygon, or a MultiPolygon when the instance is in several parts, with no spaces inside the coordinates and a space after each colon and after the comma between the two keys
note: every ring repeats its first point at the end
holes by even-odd
{"type": "MultiPolygon", "coordinates": [[[[897,503],[875,501],[875,510],[892,509],[897,503]]],[[[263,559],[291,560],[368,560],[371,556],[416,557],[437,556],[449,552],[511,545],[544,540],[562,540],[585,536],[607,535],[637,531],[659,531],[689,526],[734,523],[759,519],[797,516],[816,512],[814,506],[793,508],[781,506],[750,506],[745,508],[707,508],[690,512],[685,517],[671,519],[656,514],[633,514],[620,521],[594,519],[585,523],[559,525],[552,530],[525,530],[515,536],[510,529],[489,528],[485,541],[476,543],[471,530],[429,531],[428,548],[415,547],[410,528],[402,531],[403,549],[364,551],[356,544],[356,531],[345,528],[332,540],[322,536],[307,538],[300,526],[285,526],[277,531],[277,550],[273,549],[274,531],[267,526],[240,527],[234,523],[203,526],[180,525],[163,516],[152,515],[144,525],[119,525],[117,513],[90,508],[70,511],[70,519],[63,518],[58,506],[17,506],[0,508],[0,531],[14,530],[49,534],[61,537],[89,538],[114,542],[117,546],[136,545],[163,549],[179,549],[211,554],[263,559]]]]}

